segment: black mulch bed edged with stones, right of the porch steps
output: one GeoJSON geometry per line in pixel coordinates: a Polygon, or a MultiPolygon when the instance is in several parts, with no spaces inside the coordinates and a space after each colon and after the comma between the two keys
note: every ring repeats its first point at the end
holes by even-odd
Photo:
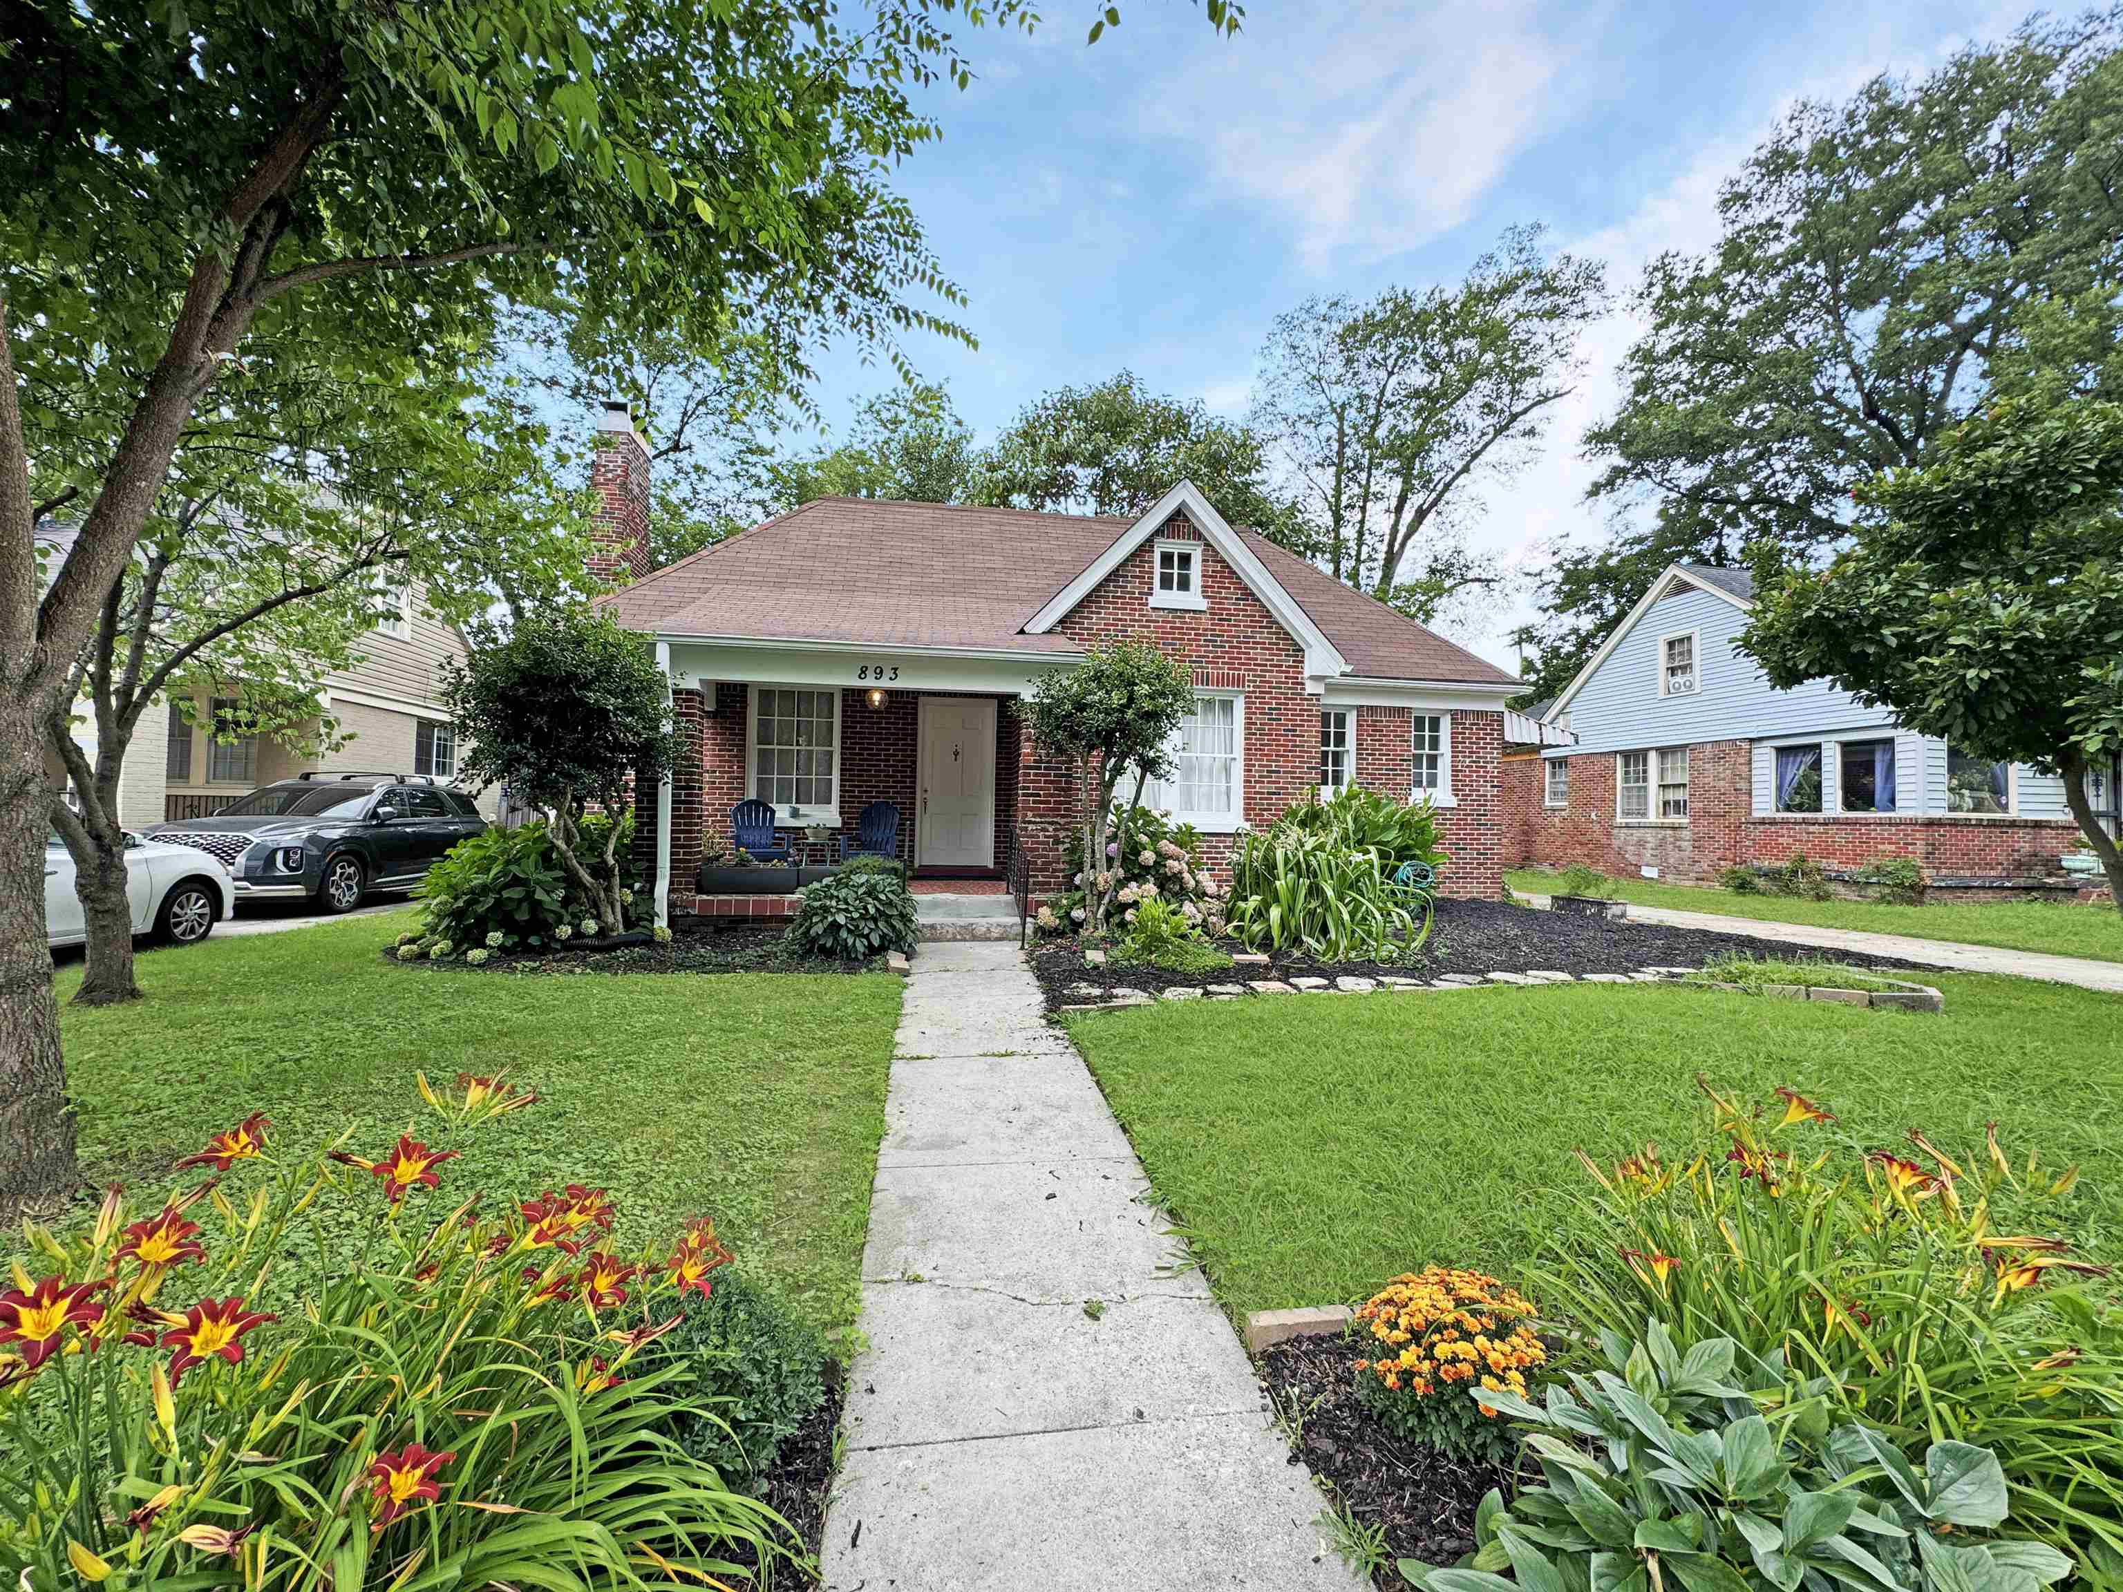
{"type": "MultiPolygon", "coordinates": [[[[1223,949],[1242,947],[1225,945],[1223,949]]],[[[1896,962],[1894,957],[1785,945],[1747,934],[1707,934],[1703,930],[1664,928],[1660,923],[1539,913],[1531,906],[1512,906],[1492,900],[1444,900],[1437,902],[1437,925],[1431,930],[1431,938],[1405,964],[1314,962],[1304,955],[1276,951],[1270,953],[1270,968],[1233,968],[1231,972],[1214,974],[1161,972],[1159,968],[1117,962],[1108,962],[1104,968],[1087,968],[1076,942],[1062,936],[1034,947],[1032,970],[1047,993],[1051,1010],[1093,1000],[1093,996],[1072,993],[1076,985],[1157,991],[1183,985],[1244,983],[1248,979],[1335,979],[1340,974],[1378,979],[1380,974],[1391,974],[1431,981],[1444,972],[1482,976],[1486,972],[1529,972],[1533,968],[1584,976],[1588,972],[1639,972],[1643,968],[1701,968],[1709,957],[1732,951],[1779,959],[1841,962],[1851,968],[1917,968],[1913,962],[1896,962]]],[[[1917,970],[1923,972],[1923,968],[1917,970]]]]}

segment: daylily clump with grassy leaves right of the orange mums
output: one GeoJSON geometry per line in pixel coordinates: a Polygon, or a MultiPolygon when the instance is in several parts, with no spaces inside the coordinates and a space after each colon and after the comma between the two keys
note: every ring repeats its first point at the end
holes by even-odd
{"type": "Polygon", "coordinates": [[[1701,1148],[1584,1157],[1592,1193],[1533,1267],[1541,1299],[1594,1333],[1652,1316],[1684,1350],[1728,1337],[1904,1448],[1981,1443],[2017,1526],[2123,1575],[2123,1312],[2059,1235],[2076,1167],[2008,1157],[1996,1129],[1881,1146],[1796,1089],[1698,1087],[1701,1148]]]}

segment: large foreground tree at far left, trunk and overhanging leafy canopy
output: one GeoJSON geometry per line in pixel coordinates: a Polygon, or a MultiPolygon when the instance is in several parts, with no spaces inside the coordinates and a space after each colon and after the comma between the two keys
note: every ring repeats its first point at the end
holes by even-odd
{"type": "MultiPolygon", "coordinates": [[[[1214,0],[1212,21],[1236,25],[1214,0]]],[[[459,374],[501,308],[896,352],[955,293],[890,163],[953,0],[23,0],[0,32],[0,1206],[72,1172],[45,726],[202,395],[301,323],[459,374]],[[51,376],[53,369],[64,371],[51,376]],[[47,480],[45,391],[104,442],[47,480]],[[45,584],[40,509],[76,526],[45,584]]],[[[974,11],[1028,19],[1015,0],[974,11]]],[[[802,369],[800,352],[790,369],[802,369]]]]}

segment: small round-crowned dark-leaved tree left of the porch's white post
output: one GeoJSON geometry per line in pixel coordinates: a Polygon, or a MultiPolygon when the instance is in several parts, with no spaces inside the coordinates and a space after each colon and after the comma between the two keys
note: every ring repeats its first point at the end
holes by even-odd
{"type": "Polygon", "coordinates": [[[507,781],[514,796],[552,809],[548,834],[563,872],[597,904],[597,921],[626,928],[618,824],[584,853],[592,802],[618,813],[631,779],[677,764],[669,681],[648,643],[609,616],[582,609],[520,618],[507,637],[482,637],[469,667],[444,664],[444,700],[471,743],[463,775],[507,781]]]}

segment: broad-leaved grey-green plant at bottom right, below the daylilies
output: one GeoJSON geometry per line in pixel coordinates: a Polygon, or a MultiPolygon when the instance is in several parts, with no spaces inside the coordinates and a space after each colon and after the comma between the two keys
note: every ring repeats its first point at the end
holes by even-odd
{"type": "Polygon", "coordinates": [[[1459,1567],[1401,1575],[1425,1592],[2034,1592],[2072,1569],[2008,1526],[1985,1448],[1904,1448],[1728,1337],[1681,1352],[1654,1320],[1601,1344],[1603,1369],[1539,1403],[1480,1395],[1526,1426],[1541,1484],[1492,1492],[1459,1567]]]}

